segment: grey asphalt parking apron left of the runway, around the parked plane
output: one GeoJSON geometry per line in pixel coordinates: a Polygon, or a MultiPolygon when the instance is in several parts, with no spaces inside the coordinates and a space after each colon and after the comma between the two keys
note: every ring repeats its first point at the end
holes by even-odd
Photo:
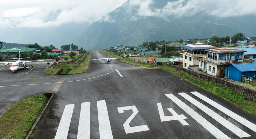
{"type": "Polygon", "coordinates": [[[16,102],[33,95],[44,94],[54,83],[58,76],[47,75],[47,62],[27,63],[27,69],[18,69],[15,73],[10,71],[10,65],[0,65],[0,117],[16,102]],[[29,85],[40,84],[40,85],[29,85]]]}

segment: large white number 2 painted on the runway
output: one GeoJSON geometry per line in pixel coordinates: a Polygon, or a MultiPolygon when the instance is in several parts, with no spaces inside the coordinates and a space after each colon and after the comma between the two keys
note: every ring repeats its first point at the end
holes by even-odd
{"type": "Polygon", "coordinates": [[[129,123],[131,122],[131,120],[137,115],[137,113],[139,112],[138,109],[136,108],[136,106],[125,106],[125,107],[118,107],[117,108],[119,113],[124,113],[125,110],[132,110],[133,113],[132,115],[125,121],[125,123],[123,124],[124,128],[125,128],[125,133],[129,134],[129,133],[134,133],[134,132],[142,132],[142,131],[148,131],[149,128],[147,127],[147,125],[140,125],[140,126],[133,126],[130,127],[129,123]]]}

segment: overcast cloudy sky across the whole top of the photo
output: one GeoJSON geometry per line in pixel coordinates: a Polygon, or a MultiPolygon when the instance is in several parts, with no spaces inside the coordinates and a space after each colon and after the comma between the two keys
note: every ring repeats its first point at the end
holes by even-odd
{"type": "MultiPolygon", "coordinates": [[[[46,27],[61,23],[108,21],[106,14],[127,0],[0,0],[0,27],[46,27]]],[[[176,0],[160,9],[153,8],[154,0],[130,0],[136,20],[143,16],[191,16],[197,13],[230,17],[256,15],[256,0],[176,0]]],[[[255,20],[255,19],[254,19],[255,20]]],[[[112,20],[111,22],[113,22],[112,20]]]]}

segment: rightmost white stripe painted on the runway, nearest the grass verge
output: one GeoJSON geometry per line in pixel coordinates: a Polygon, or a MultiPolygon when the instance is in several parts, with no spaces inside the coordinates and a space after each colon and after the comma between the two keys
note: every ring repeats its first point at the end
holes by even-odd
{"type": "Polygon", "coordinates": [[[198,92],[190,92],[192,94],[194,94],[195,96],[197,96],[198,98],[202,99],[203,101],[207,102],[208,104],[211,104],[212,106],[214,106],[215,108],[217,108],[218,110],[222,111],[223,113],[225,113],[226,115],[230,116],[231,118],[233,118],[234,120],[237,120],[238,122],[240,122],[241,124],[243,124],[244,126],[250,128],[251,130],[253,130],[254,132],[256,132],[256,125],[253,124],[252,122],[244,119],[243,117],[235,114],[234,112],[228,110],[227,108],[225,108],[224,106],[214,102],[213,100],[203,96],[202,94],[198,93],[198,92]]]}

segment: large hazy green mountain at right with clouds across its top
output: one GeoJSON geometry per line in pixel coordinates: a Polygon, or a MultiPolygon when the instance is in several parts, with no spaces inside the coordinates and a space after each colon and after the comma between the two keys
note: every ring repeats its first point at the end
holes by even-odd
{"type": "Polygon", "coordinates": [[[128,0],[72,43],[86,50],[236,33],[256,36],[255,1],[128,0]]]}

